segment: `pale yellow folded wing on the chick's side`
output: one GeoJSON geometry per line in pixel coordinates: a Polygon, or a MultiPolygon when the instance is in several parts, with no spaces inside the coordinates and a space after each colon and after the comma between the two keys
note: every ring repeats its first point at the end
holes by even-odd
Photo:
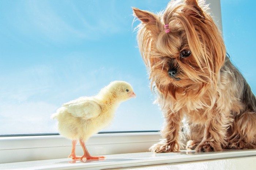
{"type": "Polygon", "coordinates": [[[85,99],[76,99],[62,105],[68,109],[68,112],[74,117],[93,118],[101,113],[101,106],[97,101],[85,99]]]}

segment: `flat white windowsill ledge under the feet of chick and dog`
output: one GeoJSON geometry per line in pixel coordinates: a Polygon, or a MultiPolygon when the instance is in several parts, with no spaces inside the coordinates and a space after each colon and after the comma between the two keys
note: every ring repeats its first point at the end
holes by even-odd
{"type": "MultiPolygon", "coordinates": [[[[117,154],[106,155],[105,160],[72,160],[70,158],[39,160],[30,162],[16,162],[0,164],[1,170],[73,170],[73,169],[113,169],[134,167],[136,169],[173,169],[175,166],[179,169],[190,170],[195,167],[200,169],[211,167],[212,170],[226,169],[244,169],[253,170],[256,166],[256,150],[242,151],[223,151],[223,152],[208,152],[196,153],[194,151],[181,151],[180,153],[162,153],[155,154],[152,152],[132,153],[132,154],[117,154]],[[236,159],[231,159],[236,158],[236,159]],[[202,161],[203,162],[194,162],[202,161]],[[208,161],[214,160],[214,161],[208,161]],[[183,163],[182,162],[186,162],[183,163]],[[209,163],[210,162],[210,163],[209,163]],[[202,166],[203,163],[203,166],[202,166]],[[221,164],[220,164],[221,163],[221,164]],[[195,164],[194,166],[192,166],[195,164]],[[238,168],[235,164],[239,165],[238,168]],[[139,167],[143,166],[143,167],[139,167]],[[172,168],[171,168],[172,167],[172,168]],[[221,167],[221,168],[220,168],[221,167]]],[[[175,168],[174,168],[175,169],[175,168]]],[[[177,169],[177,168],[176,168],[177,169]]]]}

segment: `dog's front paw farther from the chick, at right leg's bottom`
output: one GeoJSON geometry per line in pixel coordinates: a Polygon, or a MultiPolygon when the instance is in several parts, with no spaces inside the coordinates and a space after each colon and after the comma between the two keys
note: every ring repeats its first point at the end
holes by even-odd
{"type": "Polygon", "coordinates": [[[222,151],[221,144],[216,144],[211,141],[203,141],[196,147],[197,152],[212,152],[222,151]]]}

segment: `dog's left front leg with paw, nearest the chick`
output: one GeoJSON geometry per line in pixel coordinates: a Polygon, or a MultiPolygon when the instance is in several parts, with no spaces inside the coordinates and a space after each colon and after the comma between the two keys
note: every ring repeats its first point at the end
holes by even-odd
{"type": "Polygon", "coordinates": [[[181,120],[182,115],[179,113],[166,114],[165,125],[161,131],[163,139],[149,150],[157,153],[178,152],[181,120]]]}

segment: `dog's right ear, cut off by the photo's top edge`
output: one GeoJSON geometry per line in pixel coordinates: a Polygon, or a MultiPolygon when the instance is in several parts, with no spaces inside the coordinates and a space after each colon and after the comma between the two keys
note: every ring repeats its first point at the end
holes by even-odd
{"type": "Polygon", "coordinates": [[[186,8],[184,12],[196,18],[204,19],[204,12],[197,4],[197,0],[186,0],[185,2],[192,8],[186,8]]]}

